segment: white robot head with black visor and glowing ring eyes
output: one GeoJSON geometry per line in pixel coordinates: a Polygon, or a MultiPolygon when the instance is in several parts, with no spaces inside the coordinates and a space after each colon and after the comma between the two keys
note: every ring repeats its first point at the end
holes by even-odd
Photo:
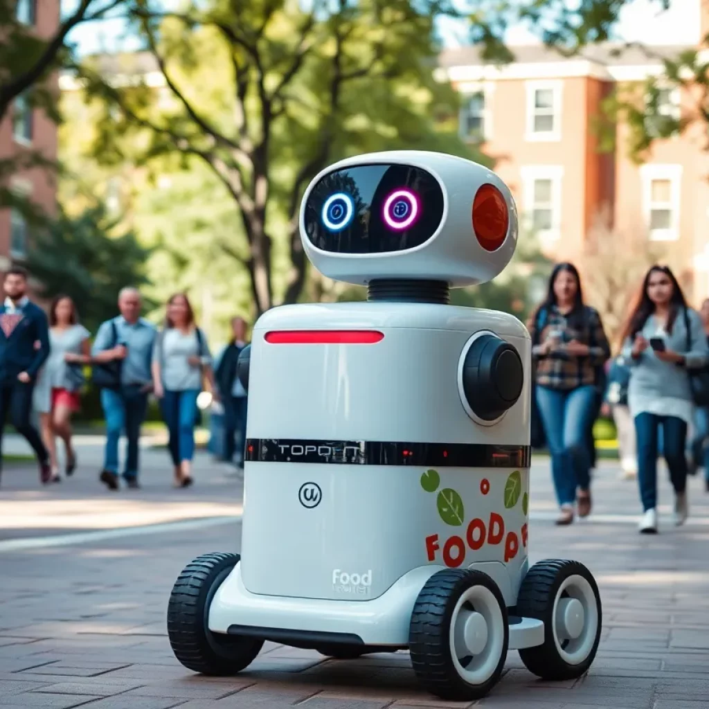
{"type": "Polygon", "coordinates": [[[335,281],[490,281],[510,262],[517,210],[491,170],[440,152],[350,157],[308,185],[301,203],[306,255],[335,281]]]}

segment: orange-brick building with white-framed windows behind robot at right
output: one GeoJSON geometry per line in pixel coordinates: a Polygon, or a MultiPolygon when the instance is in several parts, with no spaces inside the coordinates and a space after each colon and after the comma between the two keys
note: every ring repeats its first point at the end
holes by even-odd
{"type": "MultiPolygon", "coordinates": [[[[439,72],[464,94],[462,137],[481,143],[515,193],[525,225],[543,250],[578,258],[598,217],[615,238],[642,231],[667,254],[688,294],[709,296],[709,152],[705,123],[657,140],[643,164],[630,160],[628,127],[618,123],[615,148],[601,149],[602,102],[618,84],[642,85],[664,73],[660,58],[700,49],[709,33],[709,0],[690,0],[687,22],[697,42],[640,48],[594,45],[562,57],[540,45],[514,47],[510,65],[480,60],[476,48],[442,53],[439,72]],[[695,16],[696,15],[696,16],[695,16]]],[[[691,96],[660,92],[661,112],[683,116],[691,96]]],[[[582,265],[582,264],[581,264],[582,265]]]]}

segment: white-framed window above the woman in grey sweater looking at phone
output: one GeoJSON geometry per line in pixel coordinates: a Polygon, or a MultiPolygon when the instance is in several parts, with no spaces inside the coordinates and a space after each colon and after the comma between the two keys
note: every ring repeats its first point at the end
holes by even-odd
{"type": "Polygon", "coordinates": [[[681,165],[645,164],[640,168],[645,222],[652,241],[679,239],[681,165]]]}

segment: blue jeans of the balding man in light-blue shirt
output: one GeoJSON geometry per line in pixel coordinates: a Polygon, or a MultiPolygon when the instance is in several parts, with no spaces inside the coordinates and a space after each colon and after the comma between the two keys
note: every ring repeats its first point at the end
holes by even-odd
{"type": "Polygon", "coordinates": [[[125,386],[121,391],[101,389],[101,406],[106,418],[106,454],[104,470],[118,474],[118,440],[125,431],[127,450],[123,477],[138,477],[138,440],[140,426],[147,411],[147,393],[138,386],[125,386]]]}

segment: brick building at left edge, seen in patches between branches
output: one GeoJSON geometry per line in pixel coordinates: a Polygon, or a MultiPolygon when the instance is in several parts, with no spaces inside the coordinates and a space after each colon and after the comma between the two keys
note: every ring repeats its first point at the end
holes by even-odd
{"type": "MultiPolygon", "coordinates": [[[[60,0],[17,0],[16,13],[19,21],[33,27],[40,37],[48,38],[60,23],[60,0]]],[[[28,150],[52,160],[57,157],[57,126],[41,109],[31,108],[26,96],[19,96],[9,116],[0,122],[0,160],[28,150]]],[[[55,181],[46,170],[20,170],[10,178],[10,186],[46,213],[55,212],[55,181]]],[[[28,237],[28,225],[19,211],[0,210],[0,271],[23,261],[28,237]]]]}

